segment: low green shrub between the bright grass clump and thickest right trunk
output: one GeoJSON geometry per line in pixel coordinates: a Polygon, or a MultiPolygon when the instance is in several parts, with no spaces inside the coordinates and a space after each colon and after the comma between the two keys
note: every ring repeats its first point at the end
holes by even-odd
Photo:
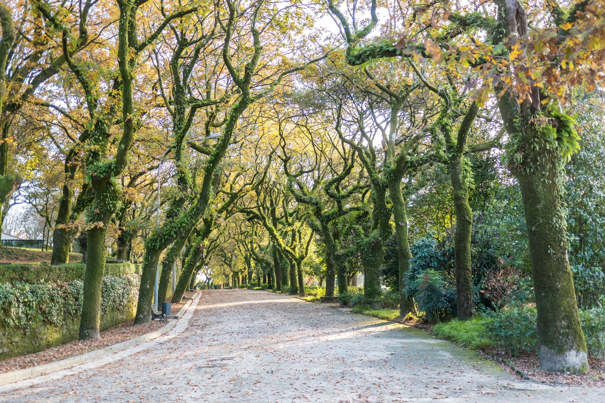
{"type": "Polygon", "coordinates": [[[506,307],[489,316],[485,323],[486,336],[499,350],[517,355],[535,352],[538,346],[535,307],[506,307]]]}

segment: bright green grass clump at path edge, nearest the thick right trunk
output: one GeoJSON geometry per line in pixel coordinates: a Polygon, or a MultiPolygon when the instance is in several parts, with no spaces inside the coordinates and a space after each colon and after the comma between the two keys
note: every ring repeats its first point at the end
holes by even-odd
{"type": "Polygon", "coordinates": [[[433,326],[433,333],[437,337],[448,339],[460,346],[471,349],[485,349],[491,347],[492,342],[485,336],[487,318],[477,317],[466,321],[452,319],[446,323],[433,326]]]}

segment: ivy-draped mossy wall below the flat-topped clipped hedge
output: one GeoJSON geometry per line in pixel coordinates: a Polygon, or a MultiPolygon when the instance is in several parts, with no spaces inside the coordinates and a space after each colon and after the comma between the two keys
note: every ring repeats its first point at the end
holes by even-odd
{"type": "MultiPolygon", "coordinates": [[[[101,330],[136,313],[140,277],[103,277],[101,330]]],[[[0,359],[34,353],[77,339],[82,281],[0,284],[0,359]]]]}

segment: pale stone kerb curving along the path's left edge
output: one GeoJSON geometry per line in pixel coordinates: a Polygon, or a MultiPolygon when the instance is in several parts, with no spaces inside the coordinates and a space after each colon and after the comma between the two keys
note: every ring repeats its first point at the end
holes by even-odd
{"type": "MultiPolygon", "coordinates": [[[[169,319],[174,318],[178,319],[183,316],[183,313],[189,308],[191,305],[191,300],[188,301],[185,306],[178,311],[177,315],[168,316],[169,319]]],[[[161,329],[154,330],[153,332],[149,332],[146,335],[142,335],[136,337],[134,339],[126,340],[118,344],[114,344],[113,346],[108,346],[103,349],[94,350],[90,353],[85,353],[82,355],[78,355],[71,358],[62,359],[57,362],[50,362],[49,364],[38,365],[37,367],[26,368],[22,370],[16,370],[12,372],[0,373],[0,385],[10,384],[17,381],[22,381],[23,379],[35,378],[36,376],[45,375],[47,373],[67,369],[70,367],[74,367],[75,365],[83,364],[84,362],[92,361],[93,359],[100,358],[106,355],[110,355],[115,352],[119,352],[123,349],[128,349],[128,347],[136,346],[137,344],[141,344],[142,342],[151,340],[156,338],[157,336],[161,336],[164,333],[168,332],[168,330],[174,327],[176,322],[170,322],[166,324],[166,326],[161,329]]]]}

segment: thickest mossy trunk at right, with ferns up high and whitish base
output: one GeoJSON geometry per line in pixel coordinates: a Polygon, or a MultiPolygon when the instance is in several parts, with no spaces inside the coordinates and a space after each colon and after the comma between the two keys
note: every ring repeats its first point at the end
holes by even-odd
{"type": "MultiPolygon", "coordinates": [[[[528,35],[528,18],[518,1],[496,4],[494,44],[507,35],[528,35]]],[[[583,4],[589,2],[580,2],[577,7],[583,4]]],[[[572,12],[555,22],[560,25],[575,18],[572,12]]],[[[538,312],[540,369],[584,373],[588,370],[586,341],[567,257],[566,215],[561,200],[564,164],[577,150],[578,136],[574,119],[549,102],[543,105],[541,100],[548,100],[548,96],[531,81],[528,84],[531,98],[517,102],[517,94],[506,91],[498,106],[509,135],[507,165],[519,182],[523,198],[538,312]]],[[[495,88],[495,93],[501,92],[502,87],[495,88]]]]}

